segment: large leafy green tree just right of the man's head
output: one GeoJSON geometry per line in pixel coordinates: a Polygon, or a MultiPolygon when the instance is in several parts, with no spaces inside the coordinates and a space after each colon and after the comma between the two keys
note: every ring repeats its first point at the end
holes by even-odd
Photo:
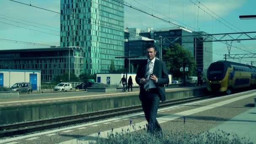
{"type": "Polygon", "coordinates": [[[192,54],[179,44],[175,44],[171,48],[165,49],[165,55],[163,55],[163,61],[165,61],[169,72],[173,77],[183,77],[183,72],[180,72],[180,68],[183,64],[189,68],[189,71],[185,74],[191,76],[195,73],[195,59],[192,54]]]}

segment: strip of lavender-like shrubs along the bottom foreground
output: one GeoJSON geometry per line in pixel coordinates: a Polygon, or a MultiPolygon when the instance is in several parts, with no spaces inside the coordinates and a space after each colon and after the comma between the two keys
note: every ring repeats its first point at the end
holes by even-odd
{"type": "Polygon", "coordinates": [[[149,134],[144,131],[109,133],[108,139],[99,139],[97,144],[252,144],[245,137],[239,138],[236,134],[224,131],[201,132],[197,134],[183,131],[163,131],[163,134],[149,134]]]}

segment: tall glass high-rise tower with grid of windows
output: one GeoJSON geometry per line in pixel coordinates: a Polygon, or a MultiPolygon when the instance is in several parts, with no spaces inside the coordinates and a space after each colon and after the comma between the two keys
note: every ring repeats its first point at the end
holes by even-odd
{"type": "MultiPolygon", "coordinates": [[[[123,1],[123,0],[122,0],[123,1]]],[[[111,60],[122,69],[124,6],[112,0],[61,0],[60,45],[84,48],[84,72],[107,73],[111,60]]]]}

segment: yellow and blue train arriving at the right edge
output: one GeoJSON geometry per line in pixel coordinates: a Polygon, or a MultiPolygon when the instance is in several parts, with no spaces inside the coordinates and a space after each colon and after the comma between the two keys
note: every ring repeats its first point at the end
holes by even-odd
{"type": "Polygon", "coordinates": [[[235,89],[256,85],[256,67],[232,61],[213,62],[207,71],[207,90],[231,93],[235,89]]]}

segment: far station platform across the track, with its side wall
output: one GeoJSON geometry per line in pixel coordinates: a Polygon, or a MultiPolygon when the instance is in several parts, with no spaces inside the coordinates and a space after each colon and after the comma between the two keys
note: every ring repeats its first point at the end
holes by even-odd
{"type": "MultiPolygon", "coordinates": [[[[166,100],[205,95],[205,86],[166,88],[166,100]]],[[[140,105],[139,89],[133,92],[63,92],[23,95],[0,101],[0,125],[80,115],[140,105]]]]}

